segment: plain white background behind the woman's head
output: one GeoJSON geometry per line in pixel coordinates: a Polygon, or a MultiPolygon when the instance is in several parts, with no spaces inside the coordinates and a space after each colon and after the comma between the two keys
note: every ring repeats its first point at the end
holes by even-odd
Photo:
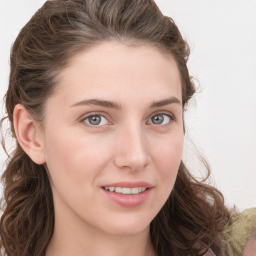
{"type": "MultiPolygon", "coordinates": [[[[11,43],[44,0],[0,0],[0,98],[7,88],[11,43]]],[[[196,151],[211,182],[239,210],[256,206],[256,1],[156,0],[191,47],[190,73],[200,83],[186,114],[184,157],[197,175],[196,151]]],[[[198,85],[198,83],[197,83],[198,85]]],[[[0,151],[0,161],[5,154],[0,151]]]]}

